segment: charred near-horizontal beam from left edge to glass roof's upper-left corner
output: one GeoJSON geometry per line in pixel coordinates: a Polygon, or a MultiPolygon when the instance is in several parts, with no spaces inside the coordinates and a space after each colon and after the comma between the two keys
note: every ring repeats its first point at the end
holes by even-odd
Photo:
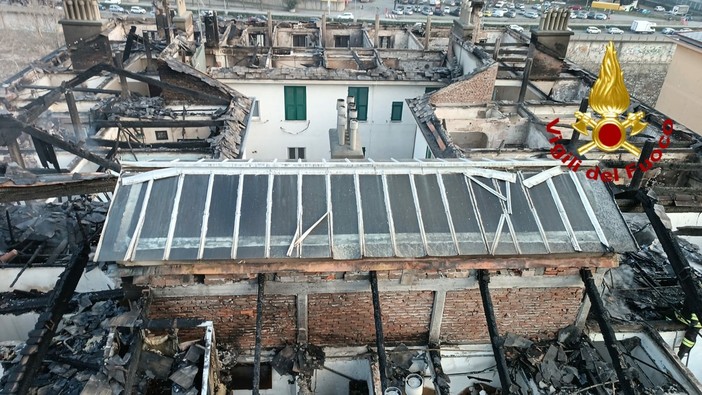
{"type": "Polygon", "coordinates": [[[117,177],[106,176],[92,180],[38,183],[13,187],[0,186],[0,203],[112,192],[115,185],[117,185],[117,177]]]}

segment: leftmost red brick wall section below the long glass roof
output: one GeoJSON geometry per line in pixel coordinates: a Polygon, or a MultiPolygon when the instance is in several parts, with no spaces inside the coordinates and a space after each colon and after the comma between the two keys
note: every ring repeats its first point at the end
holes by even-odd
{"type": "MultiPolygon", "coordinates": [[[[297,307],[294,296],[266,295],[263,304],[264,348],[295,342],[297,307]]],[[[256,342],[256,295],[154,299],[149,318],[203,318],[214,322],[217,341],[240,349],[256,342]]]]}

